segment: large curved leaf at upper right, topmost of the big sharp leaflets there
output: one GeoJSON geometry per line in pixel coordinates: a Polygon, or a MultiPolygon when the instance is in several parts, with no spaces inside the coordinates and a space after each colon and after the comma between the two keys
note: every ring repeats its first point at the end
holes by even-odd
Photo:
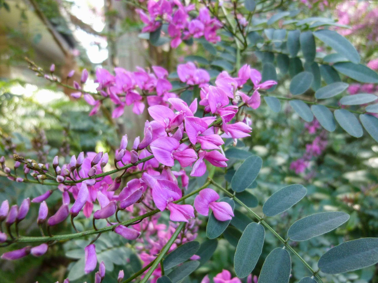
{"type": "Polygon", "coordinates": [[[320,29],[315,31],[314,35],[351,62],[355,64],[359,63],[360,58],[356,48],[342,35],[329,29],[320,29]]]}

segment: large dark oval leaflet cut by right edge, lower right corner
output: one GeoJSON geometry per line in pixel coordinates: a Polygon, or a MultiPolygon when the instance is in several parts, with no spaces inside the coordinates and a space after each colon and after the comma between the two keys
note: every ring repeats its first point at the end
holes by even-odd
{"type": "Polygon", "coordinates": [[[361,238],[333,247],[319,258],[319,269],[338,274],[361,269],[378,262],[378,238],[361,238]]]}

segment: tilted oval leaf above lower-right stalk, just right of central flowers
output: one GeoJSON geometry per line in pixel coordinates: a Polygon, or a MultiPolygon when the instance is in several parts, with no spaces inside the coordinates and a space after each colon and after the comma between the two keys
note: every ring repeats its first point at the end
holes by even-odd
{"type": "Polygon", "coordinates": [[[250,156],[243,161],[231,180],[234,192],[244,191],[256,179],[262,166],[262,159],[257,155],[250,156]]]}

